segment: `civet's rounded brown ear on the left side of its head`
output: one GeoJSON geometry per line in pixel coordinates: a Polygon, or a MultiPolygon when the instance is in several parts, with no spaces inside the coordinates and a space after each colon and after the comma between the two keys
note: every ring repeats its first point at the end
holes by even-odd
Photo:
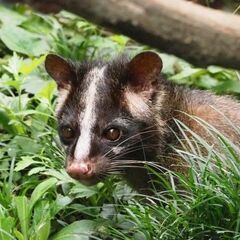
{"type": "Polygon", "coordinates": [[[76,78],[76,73],[71,64],[55,54],[47,55],[45,68],[48,74],[56,81],[58,89],[68,88],[76,78]]]}

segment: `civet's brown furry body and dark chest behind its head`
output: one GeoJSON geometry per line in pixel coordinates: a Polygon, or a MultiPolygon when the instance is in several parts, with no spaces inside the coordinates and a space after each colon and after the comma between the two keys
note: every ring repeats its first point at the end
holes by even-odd
{"type": "MultiPolygon", "coordinates": [[[[175,134],[181,138],[181,133],[173,121],[173,119],[178,119],[210,145],[218,148],[216,139],[207,132],[203,126],[204,123],[202,125],[194,119],[196,117],[210,124],[232,142],[239,145],[239,134],[233,125],[235,127],[240,126],[240,103],[231,97],[216,96],[207,91],[190,90],[162,80],[161,89],[156,93],[156,102],[151,110],[154,113],[154,118],[158,120],[158,131],[164,138],[164,144],[167,143],[177,149],[182,149],[175,135],[166,130],[174,130],[175,134]],[[165,135],[163,134],[164,131],[166,132],[165,135]]],[[[191,134],[186,133],[186,135],[191,138],[191,134]]],[[[161,149],[161,143],[159,148],[161,149]]],[[[185,150],[190,151],[190,148],[185,148],[185,150]]],[[[202,150],[203,154],[204,151],[205,149],[202,150]]],[[[159,151],[159,165],[162,169],[169,169],[182,174],[186,174],[189,167],[172,148],[165,152],[159,151]]],[[[148,193],[151,177],[144,170],[139,171],[136,168],[133,171],[132,169],[128,178],[131,182],[134,182],[134,186],[138,190],[148,193]]]]}

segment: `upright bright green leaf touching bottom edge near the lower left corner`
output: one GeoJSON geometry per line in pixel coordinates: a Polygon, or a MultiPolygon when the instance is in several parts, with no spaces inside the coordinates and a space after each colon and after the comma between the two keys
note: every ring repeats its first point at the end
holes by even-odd
{"type": "Polygon", "coordinates": [[[19,196],[15,198],[15,204],[17,208],[17,215],[21,226],[21,232],[24,240],[28,240],[29,220],[30,220],[30,208],[29,200],[25,196],[19,196]]]}

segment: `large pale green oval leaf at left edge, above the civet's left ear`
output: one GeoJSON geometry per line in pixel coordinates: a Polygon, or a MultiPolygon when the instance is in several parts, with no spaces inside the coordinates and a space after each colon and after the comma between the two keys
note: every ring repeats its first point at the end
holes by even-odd
{"type": "Polygon", "coordinates": [[[43,36],[17,26],[3,25],[0,29],[0,39],[10,50],[29,56],[39,56],[50,50],[43,36]]]}

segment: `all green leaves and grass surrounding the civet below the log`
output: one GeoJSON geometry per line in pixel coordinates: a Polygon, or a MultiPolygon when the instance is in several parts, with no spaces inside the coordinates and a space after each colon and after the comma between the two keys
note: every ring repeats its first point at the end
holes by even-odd
{"type": "MultiPolygon", "coordinates": [[[[65,11],[42,15],[0,5],[0,239],[240,239],[239,148],[206,123],[221,151],[192,132],[182,142],[185,150],[176,149],[190,164],[189,175],[160,175],[149,167],[165,189],[152,197],[115,177],[86,187],[65,173],[46,54],[107,60],[145,49],[65,11]]],[[[161,57],[172,81],[240,92],[236,71],[161,57]]]]}

